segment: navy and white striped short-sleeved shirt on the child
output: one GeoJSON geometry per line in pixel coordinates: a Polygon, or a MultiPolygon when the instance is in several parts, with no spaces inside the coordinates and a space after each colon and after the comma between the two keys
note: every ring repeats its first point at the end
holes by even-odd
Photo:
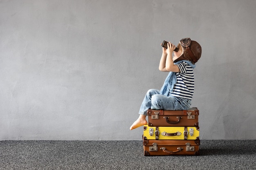
{"type": "Polygon", "coordinates": [[[192,99],[195,87],[193,68],[186,62],[181,62],[177,66],[180,68],[180,73],[176,73],[177,82],[171,95],[192,99]]]}

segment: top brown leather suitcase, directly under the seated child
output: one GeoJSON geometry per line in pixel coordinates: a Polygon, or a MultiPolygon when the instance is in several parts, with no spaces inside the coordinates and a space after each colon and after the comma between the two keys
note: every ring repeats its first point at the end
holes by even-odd
{"type": "Polygon", "coordinates": [[[198,108],[188,110],[148,109],[148,126],[198,126],[198,108]]]}

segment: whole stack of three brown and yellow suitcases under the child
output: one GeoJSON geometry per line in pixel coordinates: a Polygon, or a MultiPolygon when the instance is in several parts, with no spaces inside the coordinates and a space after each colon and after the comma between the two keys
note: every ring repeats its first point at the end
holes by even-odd
{"type": "Polygon", "coordinates": [[[198,108],[189,110],[152,110],[144,125],[145,156],[199,155],[198,108]]]}

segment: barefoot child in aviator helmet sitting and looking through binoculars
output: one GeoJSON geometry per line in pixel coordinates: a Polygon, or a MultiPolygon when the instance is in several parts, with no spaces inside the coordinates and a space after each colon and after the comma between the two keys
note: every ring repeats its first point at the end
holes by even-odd
{"type": "Polygon", "coordinates": [[[150,108],[187,110],[191,106],[194,92],[193,68],[201,53],[200,44],[190,38],[180,40],[177,49],[171,42],[167,43],[167,49],[163,47],[159,70],[169,74],[160,91],[148,90],[139,110],[139,118],[130,126],[130,130],[147,124],[146,115],[150,108]]]}

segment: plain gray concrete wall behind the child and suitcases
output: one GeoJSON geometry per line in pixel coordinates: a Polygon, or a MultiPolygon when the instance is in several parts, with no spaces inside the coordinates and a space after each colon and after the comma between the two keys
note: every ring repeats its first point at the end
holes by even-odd
{"type": "Polygon", "coordinates": [[[202,46],[200,139],[256,139],[256,1],[0,0],[0,140],[141,140],[160,43],[202,46]]]}

